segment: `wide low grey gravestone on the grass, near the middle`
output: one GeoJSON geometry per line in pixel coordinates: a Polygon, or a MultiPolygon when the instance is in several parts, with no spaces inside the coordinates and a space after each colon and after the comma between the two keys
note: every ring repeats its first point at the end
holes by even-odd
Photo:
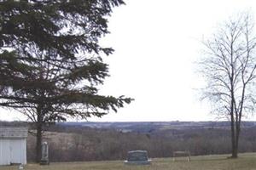
{"type": "Polygon", "coordinates": [[[125,164],[135,164],[135,165],[148,165],[151,160],[148,159],[147,150],[132,150],[128,152],[127,160],[125,164]]]}

